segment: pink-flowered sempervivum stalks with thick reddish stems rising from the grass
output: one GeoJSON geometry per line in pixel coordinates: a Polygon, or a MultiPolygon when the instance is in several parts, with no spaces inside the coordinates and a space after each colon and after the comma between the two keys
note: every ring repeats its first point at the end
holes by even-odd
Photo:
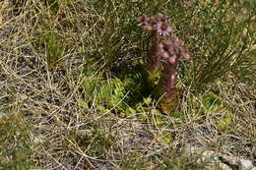
{"type": "Polygon", "coordinates": [[[169,36],[173,28],[167,23],[167,16],[159,13],[152,17],[143,16],[139,25],[152,32],[151,47],[148,52],[148,71],[152,74],[161,71],[160,86],[165,98],[172,101],[177,94],[177,68],[180,59],[190,58],[183,41],[176,35],[169,36]]]}

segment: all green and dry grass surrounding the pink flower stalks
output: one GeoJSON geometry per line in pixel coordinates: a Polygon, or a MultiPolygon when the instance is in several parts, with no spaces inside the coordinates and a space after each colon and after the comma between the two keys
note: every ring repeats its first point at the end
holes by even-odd
{"type": "Polygon", "coordinates": [[[256,163],[255,5],[0,0],[0,169],[204,169],[186,143],[256,163]],[[138,67],[158,12],[191,57],[167,114],[138,67]]]}

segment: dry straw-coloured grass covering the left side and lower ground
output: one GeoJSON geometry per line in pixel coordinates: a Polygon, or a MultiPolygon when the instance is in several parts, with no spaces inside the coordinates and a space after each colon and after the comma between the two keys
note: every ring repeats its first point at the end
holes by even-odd
{"type": "Polygon", "coordinates": [[[255,160],[255,85],[231,74],[204,90],[183,85],[171,116],[156,101],[100,113],[85,84],[111,75],[116,58],[107,57],[137,53],[140,37],[123,42],[135,35],[120,38],[107,26],[118,21],[99,14],[99,1],[7,2],[0,1],[0,169],[204,169],[197,155],[186,156],[186,143],[255,160]]]}

